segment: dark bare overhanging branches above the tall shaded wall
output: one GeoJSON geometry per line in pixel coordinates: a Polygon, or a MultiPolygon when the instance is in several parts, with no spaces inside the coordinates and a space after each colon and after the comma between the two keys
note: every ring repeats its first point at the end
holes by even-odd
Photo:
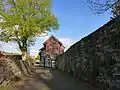
{"type": "Polygon", "coordinates": [[[111,9],[113,17],[120,15],[120,0],[87,0],[87,3],[90,9],[97,14],[111,9]]]}

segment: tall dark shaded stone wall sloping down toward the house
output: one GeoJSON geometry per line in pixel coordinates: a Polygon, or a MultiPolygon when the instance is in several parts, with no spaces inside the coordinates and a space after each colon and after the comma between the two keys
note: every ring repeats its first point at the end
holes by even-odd
{"type": "MultiPolygon", "coordinates": [[[[82,38],[56,59],[56,67],[92,85],[107,88],[120,61],[118,18],[82,38]],[[117,28],[116,28],[117,27],[117,28]]],[[[82,33],[82,32],[81,32],[82,33]]]]}

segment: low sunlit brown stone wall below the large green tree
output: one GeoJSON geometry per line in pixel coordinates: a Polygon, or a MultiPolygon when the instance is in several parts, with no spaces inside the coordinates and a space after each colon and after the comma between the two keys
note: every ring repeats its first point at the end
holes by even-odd
{"type": "Polygon", "coordinates": [[[26,61],[0,58],[0,85],[7,85],[12,80],[20,79],[30,72],[30,66],[26,61]]]}

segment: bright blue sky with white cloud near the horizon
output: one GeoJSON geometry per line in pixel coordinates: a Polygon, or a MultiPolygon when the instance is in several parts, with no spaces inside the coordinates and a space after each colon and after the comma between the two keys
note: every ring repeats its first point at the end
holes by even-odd
{"type": "MultiPolygon", "coordinates": [[[[57,31],[49,32],[47,36],[38,37],[35,45],[30,48],[30,54],[36,56],[42,43],[49,36],[54,35],[59,39],[67,50],[71,45],[81,38],[89,35],[110,20],[110,12],[101,15],[94,14],[90,11],[85,0],[53,0],[52,12],[58,18],[60,27],[57,31]]],[[[16,44],[0,44],[1,50],[8,52],[20,53],[16,44]]]]}

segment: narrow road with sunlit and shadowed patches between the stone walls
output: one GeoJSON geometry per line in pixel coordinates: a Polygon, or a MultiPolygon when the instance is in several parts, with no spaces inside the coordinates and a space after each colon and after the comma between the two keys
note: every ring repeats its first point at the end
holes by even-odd
{"type": "Polygon", "coordinates": [[[34,71],[12,90],[96,90],[57,70],[35,68],[34,71]]]}

